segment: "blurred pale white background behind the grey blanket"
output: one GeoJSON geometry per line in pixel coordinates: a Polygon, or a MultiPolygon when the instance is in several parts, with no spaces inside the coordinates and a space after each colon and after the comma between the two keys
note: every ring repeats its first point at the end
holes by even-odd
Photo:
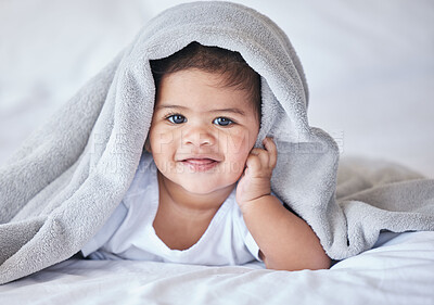
{"type": "MultiPolygon", "coordinates": [[[[0,164],[176,0],[0,0],[0,164]]],[[[309,123],[343,157],[434,178],[434,2],[233,1],[268,15],[305,67],[309,123]]]]}

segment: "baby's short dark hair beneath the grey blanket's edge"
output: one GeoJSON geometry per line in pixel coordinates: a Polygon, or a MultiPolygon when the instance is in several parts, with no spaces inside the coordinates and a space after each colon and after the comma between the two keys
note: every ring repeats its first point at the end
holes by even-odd
{"type": "Polygon", "coordinates": [[[260,76],[251,68],[239,52],[191,42],[168,58],[150,61],[158,90],[164,75],[188,68],[197,68],[225,75],[221,86],[247,90],[260,120],[260,76]]]}

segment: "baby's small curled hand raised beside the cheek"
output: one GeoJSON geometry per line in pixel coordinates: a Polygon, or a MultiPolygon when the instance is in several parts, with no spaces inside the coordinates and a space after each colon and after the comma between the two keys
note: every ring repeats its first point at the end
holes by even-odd
{"type": "Polygon", "coordinates": [[[271,193],[270,179],[276,167],[278,151],[271,138],[265,138],[265,150],[253,149],[247,156],[243,176],[237,187],[237,202],[240,208],[271,193]]]}

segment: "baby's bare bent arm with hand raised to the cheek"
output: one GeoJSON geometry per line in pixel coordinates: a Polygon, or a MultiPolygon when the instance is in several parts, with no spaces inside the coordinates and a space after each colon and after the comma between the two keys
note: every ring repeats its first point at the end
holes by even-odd
{"type": "Polygon", "coordinates": [[[312,229],[270,194],[277,148],[269,138],[264,145],[265,150],[252,150],[237,188],[237,201],[260,257],[269,269],[329,268],[330,258],[312,229]]]}

